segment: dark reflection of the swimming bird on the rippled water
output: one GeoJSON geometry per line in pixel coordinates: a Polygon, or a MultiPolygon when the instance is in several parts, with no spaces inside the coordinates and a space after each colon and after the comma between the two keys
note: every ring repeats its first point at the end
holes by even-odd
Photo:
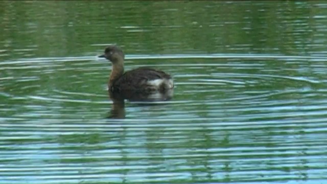
{"type": "Polygon", "coordinates": [[[154,101],[168,101],[172,99],[174,89],[166,91],[156,91],[152,94],[133,93],[133,91],[124,91],[124,93],[112,93],[109,91],[109,98],[112,101],[110,114],[107,118],[110,119],[124,119],[125,118],[125,100],[130,102],[154,102],[154,101]]]}

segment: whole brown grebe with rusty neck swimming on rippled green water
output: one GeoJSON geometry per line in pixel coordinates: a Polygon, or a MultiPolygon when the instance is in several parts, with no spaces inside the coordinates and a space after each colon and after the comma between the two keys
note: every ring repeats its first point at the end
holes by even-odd
{"type": "Polygon", "coordinates": [[[98,56],[112,63],[108,89],[112,93],[165,93],[174,88],[171,75],[149,67],[138,67],[124,72],[125,54],[117,45],[109,45],[104,54],[98,56]]]}

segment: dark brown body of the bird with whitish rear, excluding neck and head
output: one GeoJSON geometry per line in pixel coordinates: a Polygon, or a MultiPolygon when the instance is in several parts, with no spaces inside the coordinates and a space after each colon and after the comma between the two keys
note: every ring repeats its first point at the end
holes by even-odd
{"type": "Polygon", "coordinates": [[[165,72],[154,70],[148,67],[140,67],[128,71],[111,84],[114,91],[135,91],[138,93],[151,93],[174,87],[173,79],[165,72]]]}

